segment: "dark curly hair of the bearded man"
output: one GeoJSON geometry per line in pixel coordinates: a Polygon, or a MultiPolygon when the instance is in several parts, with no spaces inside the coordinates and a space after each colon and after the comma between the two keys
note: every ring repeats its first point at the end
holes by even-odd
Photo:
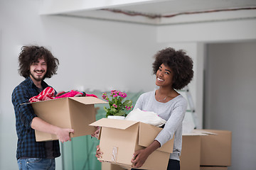
{"type": "Polygon", "coordinates": [[[19,69],[18,72],[22,77],[29,77],[30,67],[33,62],[38,62],[39,59],[44,59],[47,64],[47,72],[45,78],[50,78],[53,74],[57,74],[59,61],[53,56],[50,50],[46,47],[39,47],[37,45],[23,46],[18,56],[19,69]]]}

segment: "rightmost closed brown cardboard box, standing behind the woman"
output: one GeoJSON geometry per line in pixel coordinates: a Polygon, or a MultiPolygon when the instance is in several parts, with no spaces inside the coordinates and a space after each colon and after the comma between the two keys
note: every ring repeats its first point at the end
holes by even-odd
{"type": "Polygon", "coordinates": [[[232,132],[205,130],[217,135],[201,137],[201,166],[231,166],[232,132]]]}

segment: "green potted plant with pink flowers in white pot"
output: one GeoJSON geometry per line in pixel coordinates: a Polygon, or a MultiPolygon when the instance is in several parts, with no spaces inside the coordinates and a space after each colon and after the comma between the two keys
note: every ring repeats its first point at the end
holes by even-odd
{"type": "Polygon", "coordinates": [[[107,118],[118,118],[124,119],[127,116],[126,111],[132,110],[132,100],[124,101],[124,98],[127,97],[122,91],[112,90],[110,94],[110,98],[107,96],[107,93],[102,94],[102,98],[109,103],[110,108],[106,108],[104,106],[104,110],[106,111],[107,118]],[[121,116],[121,118],[120,118],[121,116]]]}

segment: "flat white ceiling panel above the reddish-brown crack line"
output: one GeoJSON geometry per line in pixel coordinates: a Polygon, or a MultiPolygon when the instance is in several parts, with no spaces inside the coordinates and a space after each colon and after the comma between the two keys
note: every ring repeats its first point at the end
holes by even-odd
{"type": "Polygon", "coordinates": [[[154,1],[147,4],[119,6],[117,9],[166,15],[191,11],[203,11],[221,8],[241,8],[256,6],[256,0],[183,0],[183,1],[154,1]]]}

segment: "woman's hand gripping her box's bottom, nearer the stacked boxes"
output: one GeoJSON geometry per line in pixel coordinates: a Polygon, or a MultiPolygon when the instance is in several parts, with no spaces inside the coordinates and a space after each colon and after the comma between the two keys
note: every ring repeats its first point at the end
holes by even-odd
{"type": "Polygon", "coordinates": [[[137,150],[133,154],[132,159],[132,168],[139,168],[141,167],[144,162],[146,162],[146,159],[149,157],[149,154],[146,149],[137,150]]]}

